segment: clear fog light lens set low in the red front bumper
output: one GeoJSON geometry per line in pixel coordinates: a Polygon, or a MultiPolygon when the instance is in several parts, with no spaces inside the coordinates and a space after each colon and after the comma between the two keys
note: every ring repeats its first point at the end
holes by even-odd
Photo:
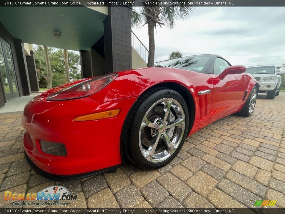
{"type": "Polygon", "coordinates": [[[57,155],[57,156],[66,156],[66,148],[62,143],[55,143],[49,141],[40,140],[39,144],[41,146],[41,150],[44,153],[50,155],[57,155]]]}

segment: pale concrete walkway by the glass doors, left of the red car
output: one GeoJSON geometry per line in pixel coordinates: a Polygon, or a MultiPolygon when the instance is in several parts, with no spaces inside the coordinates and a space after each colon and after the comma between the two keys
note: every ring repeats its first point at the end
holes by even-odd
{"type": "Polygon", "coordinates": [[[32,93],[29,96],[17,97],[12,100],[8,100],[5,106],[0,108],[0,113],[23,111],[26,104],[40,94],[41,93],[32,93]]]}

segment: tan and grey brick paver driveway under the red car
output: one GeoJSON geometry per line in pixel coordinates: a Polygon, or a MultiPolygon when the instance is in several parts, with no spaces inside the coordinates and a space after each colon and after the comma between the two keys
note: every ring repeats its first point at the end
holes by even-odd
{"type": "MultiPolygon", "coordinates": [[[[60,184],[35,174],[24,159],[20,114],[0,115],[0,207],[4,191],[35,193],[60,184]]],[[[70,207],[285,207],[285,95],[259,95],[254,114],[229,116],[186,139],[169,165],[61,183],[78,199],[70,207]]]]}

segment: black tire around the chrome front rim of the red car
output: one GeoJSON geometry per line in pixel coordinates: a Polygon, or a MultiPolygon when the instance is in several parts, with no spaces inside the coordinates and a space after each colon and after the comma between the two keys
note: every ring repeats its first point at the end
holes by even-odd
{"type": "Polygon", "coordinates": [[[127,157],[132,163],[142,169],[158,169],[166,164],[170,163],[173,158],[178,154],[183,146],[185,138],[188,134],[188,127],[189,127],[189,111],[186,105],[185,100],[183,97],[176,91],[168,88],[153,88],[146,91],[143,95],[141,95],[132,109],[129,112],[129,115],[124,124],[123,130],[123,154],[127,157]],[[163,98],[173,98],[179,102],[182,106],[184,114],[185,114],[185,129],[183,133],[183,138],[180,144],[178,145],[175,152],[170,155],[169,158],[166,160],[156,163],[151,162],[145,159],[142,152],[140,151],[139,145],[139,136],[140,136],[140,129],[141,124],[144,119],[145,114],[151,108],[151,106],[156,103],[157,101],[163,98]]]}

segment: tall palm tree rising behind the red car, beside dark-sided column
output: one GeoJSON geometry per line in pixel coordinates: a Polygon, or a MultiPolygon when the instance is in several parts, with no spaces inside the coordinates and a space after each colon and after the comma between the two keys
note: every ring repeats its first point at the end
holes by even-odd
{"type": "MultiPolygon", "coordinates": [[[[134,0],[140,1],[140,0],[134,0]]],[[[135,9],[132,9],[132,26],[139,27],[142,23],[142,16],[145,18],[145,24],[148,24],[148,43],[149,43],[149,52],[148,52],[148,67],[154,66],[154,28],[156,26],[162,27],[167,25],[172,29],[175,25],[177,19],[184,20],[191,14],[193,7],[186,5],[186,0],[170,0],[167,2],[172,3],[173,6],[147,6],[148,3],[156,2],[157,5],[161,5],[160,0],[147,0],[141,2],[141,11],[137,12],[135,9]],[[174,6],[175,5],[175,6],[174,6]],[[181,6],[182,5],[182,6],[181,6]]]]}

